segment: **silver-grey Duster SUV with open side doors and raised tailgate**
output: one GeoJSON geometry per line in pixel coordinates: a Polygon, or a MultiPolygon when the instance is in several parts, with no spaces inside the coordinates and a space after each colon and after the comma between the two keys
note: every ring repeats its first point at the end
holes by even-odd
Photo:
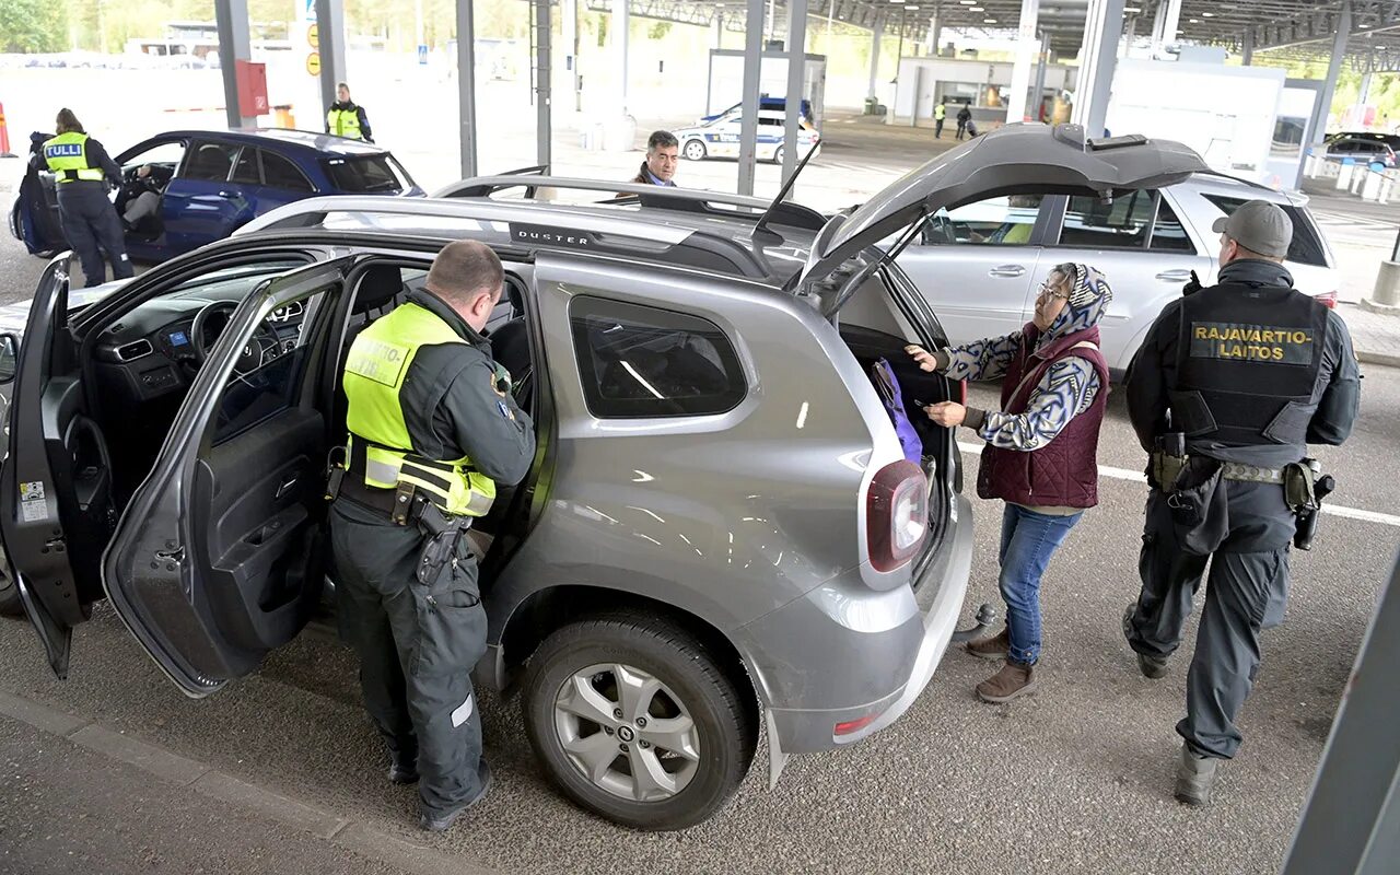
{"type": "MultiPolygon", "coordinates": [[[[328,197],[70,307],[45,272],[11,385],[0,533],[10,591],[60,676],[106,598],[203,697],[255,671],[333,591],[323,477],[339,372],[445,241],[491,245],[490,328],[539,452],[473,528],[489,651],[553,781],[640,829],[715,812],[759,735],[788,756],[858,743],[928,685],[972,564],[951,431],[959,388],[913,367],[946,337],[879,239],[1035,162],[1047,189],[1155,188],[1172,143],[1098,153],[1008,127],[850,214],[655,186],[473,181],[452,199],[328,197]],[[501,185],[606,188],[560,206],[501,185]],[[622,193],[624,199],[612,199],[622,193]],[[871,375],[888,358],[902,444],[871,375]],[[328,582],[330,584],[328,587],[328,582]]],[[[11,605],[13,606],[13,605],[11,605]]]]}

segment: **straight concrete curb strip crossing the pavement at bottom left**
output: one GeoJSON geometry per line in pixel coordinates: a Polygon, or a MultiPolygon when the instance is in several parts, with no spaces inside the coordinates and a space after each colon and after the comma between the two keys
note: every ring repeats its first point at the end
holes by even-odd
{"type": "Polygon", "coordinates": [[[59,735],[168,784],[228,802],[342,848],[417,875],[496,875],[479,862],[414,844],[363,820],[349,820],[318,805],[249,784],[207,763],[192,760],[125,732],[66,714],[21,696],[0,692],[0,715],[59,735]]]}

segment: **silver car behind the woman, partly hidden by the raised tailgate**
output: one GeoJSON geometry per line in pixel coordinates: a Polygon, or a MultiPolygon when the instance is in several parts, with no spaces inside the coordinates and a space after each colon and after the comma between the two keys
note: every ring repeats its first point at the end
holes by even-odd
{"type": "Polygon", "coordinates": [[[1110,371],[1121,375],[1191,272],[1203,284],[1215,276],[1219,235],[1211,225],[1253,199],[1277,203],[1292,218],[1287,267],[1298,288],[1327,305],[1337,301],[1340,272],[1305,196],[1207,174],[1112,202],[1023,189],[935,213],[899,258],[953,343],[1018,330],[1030,321],[1039,284],[1054,265],[1089,263],[1113,286],[1099,332],[1110,371]]]}

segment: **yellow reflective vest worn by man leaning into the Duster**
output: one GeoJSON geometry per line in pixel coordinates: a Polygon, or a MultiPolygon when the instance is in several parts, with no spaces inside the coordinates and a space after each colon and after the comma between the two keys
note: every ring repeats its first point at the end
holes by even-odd
{"type": "Polygon", "coordinates": [[[350,344],[343,378],[349,456],[353,459],[363,442],[365,486],[410,483],[448,514],[482,517],[496,501],[496,483],[472,470],[466,456],[438,461],[414,454],[403,419],[399,392],[409,367],[420,347],[442,343],[468,346],[452,326],[417,304],[398,307],[360,332],[350,344]]]}

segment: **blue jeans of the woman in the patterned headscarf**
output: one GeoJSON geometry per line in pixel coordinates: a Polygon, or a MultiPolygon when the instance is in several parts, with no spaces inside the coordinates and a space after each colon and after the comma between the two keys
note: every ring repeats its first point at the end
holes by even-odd
{"type": "Polygon", "coordinates": [[[1082,515],[1053,517],[1009,503],[1001,515],[1000,584],[1012,662],[1035,665],[1040,658],[1040,575],[1082,515]]]}

